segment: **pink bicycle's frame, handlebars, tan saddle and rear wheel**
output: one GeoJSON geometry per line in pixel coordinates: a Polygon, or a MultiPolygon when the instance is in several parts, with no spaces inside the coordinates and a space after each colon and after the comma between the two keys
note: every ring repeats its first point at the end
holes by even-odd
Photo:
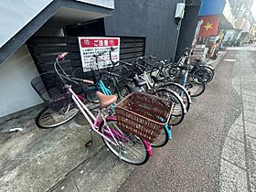
{"type": "MultiPolygon", "coordinates": [[[[104,95],[100,91],[97,91],[96,96],[100,102],[100,109],[98,110],[97,115],[94,116],[71,89],[71,84],[69,84],[67,80],[72,81],[72,78],[67,76],[65,71],[59,65],[59,59],[64,59],[67,55],[67,52],[59,55],[54,63],[54,69],[56,70],[59,80],[65,90],[71,94],[72,101],[76,103],[80,112],[83,114],[87,122],[90,123],[90,131],[100,134],[104,144],[106,144],[112,154],[119,157],[119,159],[132,165],[145,164],[148,161],[149,156],[152,155],[150,144],[132,133],[124,133],[120,128],[118,128],[116,118],[109,115],[108,107],[117,101],[117,97],[115,95],[104,95]]],[[[80,80],[89,84],[93,83],[90,80],[81,80],[78,78],[75,80],[80,80]]]]}

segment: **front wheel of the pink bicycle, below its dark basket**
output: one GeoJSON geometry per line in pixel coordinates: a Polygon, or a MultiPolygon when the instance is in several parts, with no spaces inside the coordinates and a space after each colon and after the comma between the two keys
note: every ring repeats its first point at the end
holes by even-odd
{"type": "Polygon", "coordinates": [[[55,128],[69,122],[79,112],[76,103],[70,97],[61,95],[37,114],[35,122],[41,129],[55,128]]]}

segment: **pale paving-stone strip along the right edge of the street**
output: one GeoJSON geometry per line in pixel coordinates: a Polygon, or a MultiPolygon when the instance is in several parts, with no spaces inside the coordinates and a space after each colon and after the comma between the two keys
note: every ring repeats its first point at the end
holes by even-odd
{"type": "Polygon", "coordinates": [[[229,61],[234,62],[232,86],[242,109],[222,148],[220,191],[256,191],[256,48],[230,51],[236,53],[229,61]]]}

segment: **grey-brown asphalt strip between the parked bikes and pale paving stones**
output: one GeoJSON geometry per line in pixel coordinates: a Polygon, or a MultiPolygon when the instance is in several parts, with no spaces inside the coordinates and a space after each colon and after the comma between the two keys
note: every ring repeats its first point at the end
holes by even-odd
{"type": "MultiPolygon", "coordinates": [[[[173,129],[173,142],[133,170],[119,191],[219,191],[220,156],[230,126],[240,116],[240,95],[232,87],[234,59],[228,50],[215,80],[193,99],[184,122],[173,129]]],[[[241,53],[242,54],[242,53],[241,53]]]]}

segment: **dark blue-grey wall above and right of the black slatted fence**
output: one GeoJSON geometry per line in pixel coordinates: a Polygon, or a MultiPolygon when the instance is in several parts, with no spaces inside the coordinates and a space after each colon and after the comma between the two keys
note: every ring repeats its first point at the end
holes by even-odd
{"type": "Polygon", "coordinates": [[[175,52],[176,3],[182,0],[116,0],[105,18],[108,36],[145,36],[145,54],[170,58],[175,52]]]}

